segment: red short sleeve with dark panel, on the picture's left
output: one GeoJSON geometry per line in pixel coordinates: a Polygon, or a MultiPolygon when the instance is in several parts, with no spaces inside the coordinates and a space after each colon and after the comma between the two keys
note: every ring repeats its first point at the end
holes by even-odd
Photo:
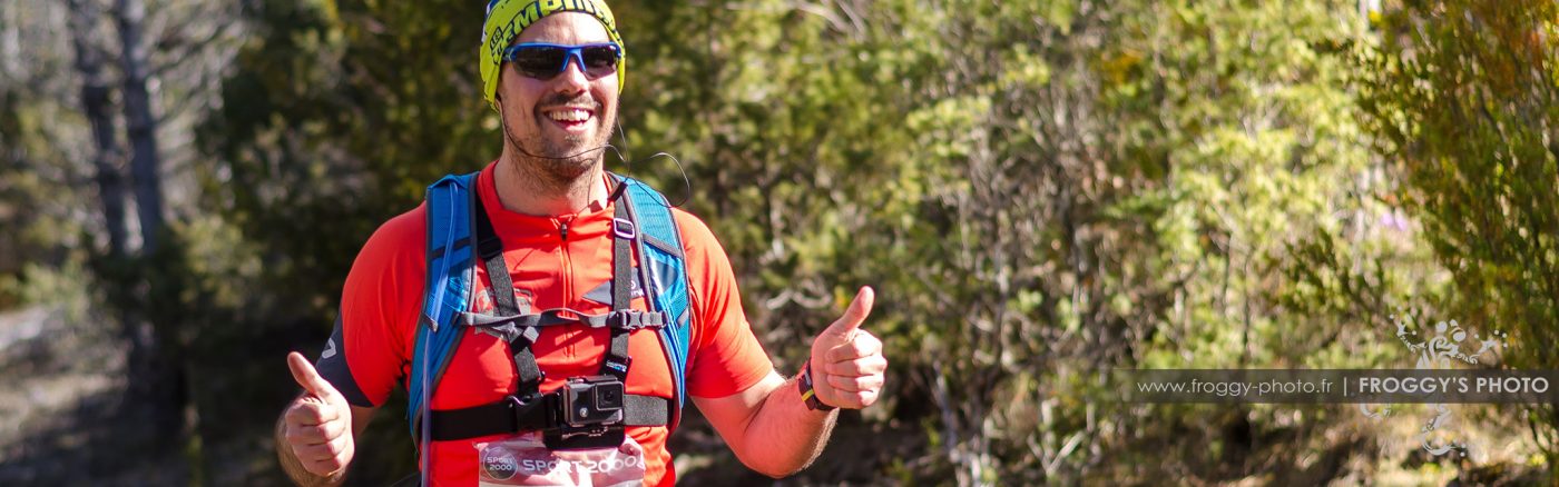
{"type": "Polygon", "coordinates": [[[341,289],[341,313],[320,375],[354,406],[379,406],[408,364],[426,275],[426,208],[391,218],[363,244],[341,289]]]}

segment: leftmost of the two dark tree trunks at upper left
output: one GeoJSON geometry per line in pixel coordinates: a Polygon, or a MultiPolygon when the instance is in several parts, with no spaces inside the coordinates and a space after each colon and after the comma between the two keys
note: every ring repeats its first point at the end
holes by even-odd
{"type": "Polygon", "coordinates": [[[70,33],[76,50],[76,72],[81,73],[81,109],[92,124],[92,140],[97,152],[92,166],[97,170],[98,199],[103,202],[103,222],[108,229],[109,257],[125,257],[125,176],[117,159],[118,142],[114,138],[114,115],[109,101],[108,76],[103,75],[103,53],[92,45],[97,39],[97,11],[84,0],[69,0],[70,33]]]}

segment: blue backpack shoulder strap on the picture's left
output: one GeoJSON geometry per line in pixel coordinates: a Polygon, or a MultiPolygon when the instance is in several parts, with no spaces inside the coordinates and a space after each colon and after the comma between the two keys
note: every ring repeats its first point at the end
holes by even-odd
{"type": "Polygon", "coordinates": [[[444,176],[427,187],[427,283],[418,316],[412,377],[407,380],[407,422],[422,439],[422,412],[463,335],[460,313],[471,303],[472,199],[477,173],[444,176]]]}

